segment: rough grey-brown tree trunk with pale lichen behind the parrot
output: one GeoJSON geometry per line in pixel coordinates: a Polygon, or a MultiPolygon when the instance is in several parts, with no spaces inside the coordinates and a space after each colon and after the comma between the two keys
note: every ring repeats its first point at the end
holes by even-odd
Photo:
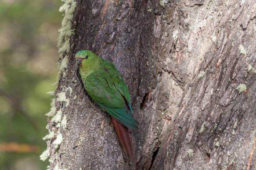
{"type": "Polygon", "coordinates": [[[132,169],[74,55],[112,61],[131,94],[138,170],[256,169],[254,0],[66,0],[48,120],[56,170],[132,169]]]}

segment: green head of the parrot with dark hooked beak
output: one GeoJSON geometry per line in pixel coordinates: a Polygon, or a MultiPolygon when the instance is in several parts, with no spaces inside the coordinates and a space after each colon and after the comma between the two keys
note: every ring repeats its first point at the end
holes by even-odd
{"type": "Polygon", "coordinates": [[[95,53],[89,50],[81,50],[76,54],[77,65],[81,68],[90,68],[98,64],[98,57],[95,53]]]}

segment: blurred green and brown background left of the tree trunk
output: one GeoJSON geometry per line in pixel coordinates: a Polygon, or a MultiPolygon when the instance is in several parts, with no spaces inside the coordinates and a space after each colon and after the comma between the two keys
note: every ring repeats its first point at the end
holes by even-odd
{"type": "Polygon", "coordinates": [[[45,170],[39,160],[56,85],[61,0],[0,0],[0,170],[45,170]]]}

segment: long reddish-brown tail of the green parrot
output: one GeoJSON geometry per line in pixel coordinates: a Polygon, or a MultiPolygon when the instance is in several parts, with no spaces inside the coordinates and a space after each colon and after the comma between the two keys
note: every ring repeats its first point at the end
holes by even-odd
{"type": "Polygon", "coordinates": [[[133,157],[133,147],[131,145],[131,139],[130,139],[130,135],[128,132],[128,128],[126,128],[124,125],[119,123],[112,116],[111,116],[111,119],[115,126],[115,130],[116,130],[116,133],[118,134],[121,145],[125,149],[125,152],[128,154],[128,156],[131,160],[131,163],[133,165],[133,168],[136,168],[134,157],[133,157]]]}

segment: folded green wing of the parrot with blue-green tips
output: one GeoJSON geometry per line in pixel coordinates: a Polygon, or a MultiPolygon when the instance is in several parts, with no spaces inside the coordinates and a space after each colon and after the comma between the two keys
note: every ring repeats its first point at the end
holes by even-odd
{"type": "Polygon", "coordinates": [[[92,72],[86,78],[84,86],[88,94],[103,110],[127,128],[137,129],[138,122],[133,119],[130,95],[122,76],[111,62],[92,72]],[[125,106],[125,100],[129,109],[125,106]]]}

